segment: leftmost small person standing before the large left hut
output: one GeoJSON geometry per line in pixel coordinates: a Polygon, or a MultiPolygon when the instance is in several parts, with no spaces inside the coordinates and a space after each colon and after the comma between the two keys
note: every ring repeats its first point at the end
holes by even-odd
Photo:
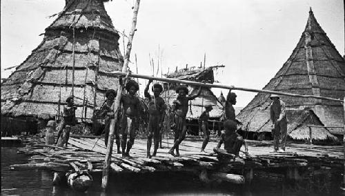
{"type": "Polygon", "coordinates": [[[70,126],[75,126],[75,110],[77,110],[77,106],[75,106],[75,102],[73,101],[73,96],[67,97],[66,103],[67,103],[67,106],[63,106],[63,119],[61,121],[59,133],[57,133],[57,141],[55,144],[57,144],[57,142],[59,141],[63,128],[68,126],[69,128],[67,131],[66,143],[65,143],[65,145],[67,146],[68,139],[70,137],[70,126]]]}

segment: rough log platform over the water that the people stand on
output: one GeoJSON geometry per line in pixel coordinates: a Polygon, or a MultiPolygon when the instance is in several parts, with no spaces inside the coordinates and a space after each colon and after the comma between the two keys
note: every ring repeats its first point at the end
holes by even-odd
{"type": "MultiPolygon", "coordinates": [[[[21,137],[24,144],[19,153],[30,155],[27,164],[14,164],[11,170],[43,169],[52,172],[67,172],[73,168],[85,170],[92,168],[93,173],[103,169],[106,146],[102,137],[73,136],[68,147],[49,146],[39,135],[21,137]]],[[[154,173],[157,171],[198,172],[200,179],[228,180],[242,184],[244,179],[253,178],[253,170],[275,170],[277,168],[306,168],[310,166],[343,168],[343,146],[315,146],[308,144],[288,144],[286,153],[270,153],[272,142],[248,141],[250,155],[240,153],[241,158],[219,161],[212,155],[216,141],[210,141],[206,152],[200,153],[201,139],[189,138],[182,141],[180,157],[168,154],[173,139],[164,139],[157,157],[146,157],[146,139],[135,139],[130,158],[117,154],[114,146],[112,173],[154,173]],[[233,175],[233,176],[229,176],[233,175]]],[[[244,148],[244,147],[242,147],[244,148]]],[[[242,149],[244,150],[244,149],[242,149]]],[[[291,172],[289,169],[288,172],[291,172]]]]}

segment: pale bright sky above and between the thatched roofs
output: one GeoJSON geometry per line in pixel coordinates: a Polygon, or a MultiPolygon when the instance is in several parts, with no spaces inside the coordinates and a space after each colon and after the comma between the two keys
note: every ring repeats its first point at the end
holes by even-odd
{"type": "MultiPolygon", "coordinates": [[[[106,3],[115,28],[128,34],[133,1],[106,3]]],[[[22,63],[41,43],[64,0],[1,0],[1,78],[22,63]]],[[[306,26],[309,7],[341,55],[344,55],[343,0],[141,0],[131,61],[137,54],[139,73],[151,75],[148,53],[157,67],[158,46],[164,73],[224,64],[215,75],[221,84],[262,89],[293,52],[306,26]]],[[[123,48],[120,38],[121,52],[123,48]]],[[[126,41],[127,43],[127,41],[126,41]]],[[[135,71],[135,65],[130,65],[135,71]]],[[[160,72],[160,71],[159,71],[160,72]]],[[[141,81],[144,90],[145,81],[141,81]]],[[[220,90],[213,89],[215,95],[220,90]]],[[[246,106],[253,92],[237,93],[246,106]]],[[[224,94],[226,94],[225,92],[224,94]]]]}

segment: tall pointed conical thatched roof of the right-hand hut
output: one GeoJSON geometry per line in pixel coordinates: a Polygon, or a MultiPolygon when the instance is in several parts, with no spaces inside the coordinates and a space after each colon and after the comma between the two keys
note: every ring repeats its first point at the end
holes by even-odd
{"type": "MultiPolygon", "coordinates": [[[[286,63],[270,79],[264,90],[291,92],[344,99],[345,61],[309,12],[306,28],[286,63]]],[[[268,94],[259,93],[237,118],[248,124],[249,131],[270,132],[268,94]]],[[[337,101],[282,96],[288,109],[311,108],[324,126],[343,125],[343,106],[337,101]]],[[[337,133],[341,129],[330,129],[337,133]]]]}

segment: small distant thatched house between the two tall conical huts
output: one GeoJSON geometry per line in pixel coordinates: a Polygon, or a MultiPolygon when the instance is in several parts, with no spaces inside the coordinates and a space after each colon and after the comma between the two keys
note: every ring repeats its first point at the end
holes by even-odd
{"type": "MultiPolygon", "coordinates": [[[[207,68],[184,68],[181,70],[176,70],[170,74],[165,75],[167,78],[172,79],[181,79],[181,80],[188,80],[188,81],[199,81],[199,82],[206,82],[209,84],[213,84],[215,82],[214,76],[214,69],[222,68],[224,66],[210,66],[207,68]]],[[[172,105],[172,101],[174,101],[177,97],[177,93],[175,89],[179,84],[173,83],[164,83],[164,91],[161,93],[162,97],[166,103],[172,105]]],[[[199,90],[198,86],[188,86],[189,94],[194,95],[199,90]]],[[[213,94],[210,88],[203,87],[201,90],[201,95],[196,99],[190,101],[190,107],[188,108],[187,113],[187,128],[188,133],[193,135],[198,135],[199,133],[199,124],[198,119],[201,113],[205,110],[204,106],[206,104],[210,104],[213,106],[213,110],[210,111],[210,129],[211,130],[219,130],[222,126],[220,122],[218,122],[222,115],[223,115],[223,106],[221,102],[218,101],[217,97],[213,94]]]]}

